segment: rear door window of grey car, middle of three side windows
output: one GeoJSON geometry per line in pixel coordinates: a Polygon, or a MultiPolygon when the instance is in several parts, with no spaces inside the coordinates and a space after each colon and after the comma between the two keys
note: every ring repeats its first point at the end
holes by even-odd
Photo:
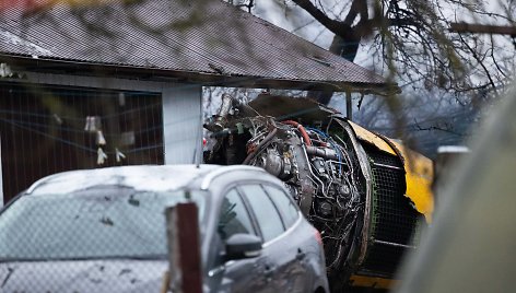
{"type": "Polygon", "coordinates": [[[259,185],[243,185],[245,197],[256,215],[263,242],[269,242],[285,231],[277,208],[259,185]]]}

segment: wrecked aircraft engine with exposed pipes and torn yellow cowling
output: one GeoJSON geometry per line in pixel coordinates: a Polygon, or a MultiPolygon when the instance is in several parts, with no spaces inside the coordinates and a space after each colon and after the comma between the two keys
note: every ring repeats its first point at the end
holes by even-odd
{"type": "Polygon", "coordinates": [[[433,211],[432,162],[307,98],[222,96],[206,163],[260,166],[321,234],[332,286],[388,288],[433,211]]]}

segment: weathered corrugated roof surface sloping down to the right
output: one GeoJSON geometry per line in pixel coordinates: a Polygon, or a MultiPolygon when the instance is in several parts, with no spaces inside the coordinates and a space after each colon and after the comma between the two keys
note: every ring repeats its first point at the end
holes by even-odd
{"type": "MultiPolygon", "coordinates": [[[[385,80],[213,0],[64,3],[0,13],[0,52],[203,74],[380,87],[385,80]]],[[[301,86],[300,86],[301,87],[301,86]]]]}

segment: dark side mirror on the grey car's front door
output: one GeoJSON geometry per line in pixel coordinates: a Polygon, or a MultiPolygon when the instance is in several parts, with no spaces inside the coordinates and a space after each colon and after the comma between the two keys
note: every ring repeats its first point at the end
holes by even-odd
{"type": "Polygon", "coordinates": [[[234,234],[225,242],[226,260],[251,258],[260,255],[261,239],[251,234],[234,234]]]}

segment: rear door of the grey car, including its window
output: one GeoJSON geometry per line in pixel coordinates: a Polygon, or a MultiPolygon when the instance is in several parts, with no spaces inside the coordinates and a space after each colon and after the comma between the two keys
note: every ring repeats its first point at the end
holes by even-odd
{"type": "Polygon", "coordinates": [[[278,207],[258,184],[241,185],[263,237],[261,266],[271,288],[277,292],[303,292],[303,270],[300,265],[295,235],[288,237],[285,221],[278,207]]]}

